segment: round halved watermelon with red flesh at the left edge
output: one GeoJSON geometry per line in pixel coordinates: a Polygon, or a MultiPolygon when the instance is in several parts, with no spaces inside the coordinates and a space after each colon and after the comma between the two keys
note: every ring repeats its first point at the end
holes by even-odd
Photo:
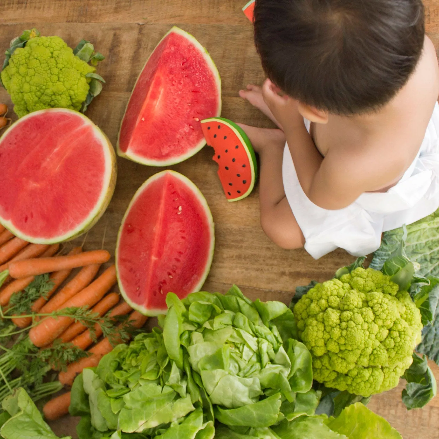
{"type": "Polygon", "coordinates": [[[32,112],[0,138],[0,223],[26,241],[84,233],[104,213],[115,182],[110,141],[79,112],[32,112]]]}

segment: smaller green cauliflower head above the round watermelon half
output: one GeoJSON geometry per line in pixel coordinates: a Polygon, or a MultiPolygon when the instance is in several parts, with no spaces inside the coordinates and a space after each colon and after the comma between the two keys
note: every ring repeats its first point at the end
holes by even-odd
{"type": "Polygon", "coordinates": [[[60,37],[40,36],[14,51],[1,80],[18,117],[53,107],[79,111],[90,88],[86,74],[95,70],[60,37]]]}

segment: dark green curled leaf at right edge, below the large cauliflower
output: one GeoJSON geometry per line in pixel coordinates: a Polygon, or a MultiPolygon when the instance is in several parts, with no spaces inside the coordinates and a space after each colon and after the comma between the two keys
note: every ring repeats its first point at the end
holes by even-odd
{"type": "Polygon", "coordinates": [[[403,378],[407,381],[402,393],[402,400],[407,410],[424,407],[436,396],[436,380],[427,357],[413,353],[413,363],[405,371],[403,378]]]}

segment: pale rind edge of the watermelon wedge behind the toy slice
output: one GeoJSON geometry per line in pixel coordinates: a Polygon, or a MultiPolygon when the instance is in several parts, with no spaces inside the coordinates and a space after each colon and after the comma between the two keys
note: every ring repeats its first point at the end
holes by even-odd
{"type": "Polygon", "coordinates": [[[198,51],[202,54],[203,58],[205,59],[207,65],[209,66],[209,70],[210,70],[210,72],[212,73],[212,75],[213,75],[213,77],[215,79],[216,90],[217,90],[216,98],[218,100],[218,108],[216,110],[216,114],[213,115],[213,116],[221,115],[221,108],[222,108],[222,102],[221,102],[221,77],[219,76],[219,72],[218,72],[218,69],[216,68],[215,63],[213,62],[212,58],[210,57],[209,52],[207,51],[207,49],[205,47],[203,47],[193,35],[191,35],[189,32],[184,31],[183,29],[180,29],[177,26],[173,26],[169,30],[169,32],[167,32],[166,35],[163,36],[163,38],[158,42],[157,46],[154,48],[154,50],[149,55],[147,61],[145,62],[142,70],[139,73],[139,76],[137,76],[136,83],[134,84],[133,91],[131,92],[131,95],[130,95],[130,99],[128,100],[128,103],[126,104],[125,112],[123,113],[122,121],[120,122],[119,133],[117,135],[117,142],[116,142],[117,155],[119,155],[119,157],[123,157],[123,158],[127,158],[129,160],[132,160],[133,162],[140,163],[141,165],[147,165],[147,166],[171,166],[171,165],[175,165],[176,163],[184,162],[184,160],[187,160],[188,158],[190,158],[193,155],[197,154],[197,152],[201,151],[202,148],[206,144],[206,141],[205,141],[204,137],[202,137],[202,139],[198,142],[198,144],[194,145],[194,147],[190,151],[188,151],[187,154],[179,155],[179,156],[170,158],[169,160],[152,160],[152,159],[149,159],[149,158],[145,158],[145,157],[143,157],[141,155],[134,154],[133,152],[130,152],[129,150],[127,150],[126,152],[123,152],[120,149],[119,138],[120,138],[120,131],[121,131],[121,128],[122,128],[122,123],[123,123],[123,120],[125,119],[126,111],[128,110],[128,105],[130,104],[131,98],[133,97],[134,90],[136,89],[137,82],[139,81],[140,76],[142,75],[142,72],[144,71],[145,66],[148,64],[149,59],[151,58],[152,54],[155,52],[155,49],[157,49],[157,47],[160,45],[160,43],[172,32],[177,33],[177,34],[183,36],[184,38],[186,38],[187,40],[189,40],[195,46],[195,48],[198,49],[198,51]]]}

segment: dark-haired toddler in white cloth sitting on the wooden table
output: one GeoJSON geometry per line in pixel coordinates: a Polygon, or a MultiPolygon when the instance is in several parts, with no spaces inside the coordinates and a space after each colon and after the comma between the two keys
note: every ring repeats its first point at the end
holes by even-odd
{"type": "Polygon", "coordinates": [[[256,0],[269,79],[240,96],[279,130],[259,153],[261,225],[314,257],[376,250],[439,206],[439,69],[421,0],[256,0]]]}

